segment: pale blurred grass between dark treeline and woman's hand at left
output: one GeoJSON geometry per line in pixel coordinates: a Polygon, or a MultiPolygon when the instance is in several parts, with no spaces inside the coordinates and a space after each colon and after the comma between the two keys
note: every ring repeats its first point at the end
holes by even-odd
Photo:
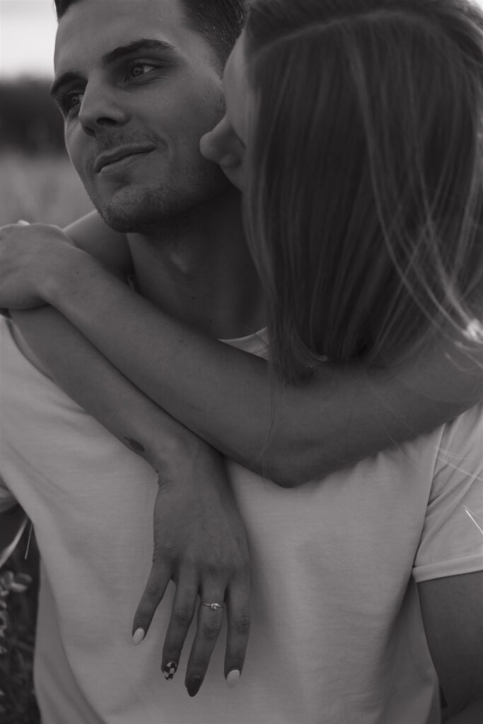
{"type": "Polygon", "coordinates": [[[66,226],[93,208],[67,156],[0,155],[0,226],[66,226]]]}

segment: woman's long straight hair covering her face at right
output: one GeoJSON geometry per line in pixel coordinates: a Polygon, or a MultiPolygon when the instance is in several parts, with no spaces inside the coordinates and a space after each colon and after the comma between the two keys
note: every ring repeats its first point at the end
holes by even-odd
{"type": "Polygon", "coordinates": [[[254,0],[245,216],[272,358],[393,363],[476,341],[483,17],[458,0],[254,0]]]}

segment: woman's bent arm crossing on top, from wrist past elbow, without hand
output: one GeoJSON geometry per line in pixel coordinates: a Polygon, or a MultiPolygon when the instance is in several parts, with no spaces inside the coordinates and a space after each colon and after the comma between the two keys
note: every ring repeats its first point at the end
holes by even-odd
{"type": "Polygon", "coordinates": [[[450,342],[398,371],[326,366],[307,384],[273,385],[264,360],[177,323],[83,252],[66,253],[49,303],[158,405],[279,484],[416,437],[483,397],[481,351],[472,362],[450,342]]]}

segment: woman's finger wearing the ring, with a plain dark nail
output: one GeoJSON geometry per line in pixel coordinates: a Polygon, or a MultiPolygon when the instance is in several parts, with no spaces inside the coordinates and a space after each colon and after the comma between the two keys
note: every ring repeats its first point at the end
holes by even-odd
{"type": "Polygon", "coordinates": [[[203,586],[196,635],[185,676],[185,686],[190,696],[198,694],[205,678],[211,654],[222,630],[224,608],[224,590],[214,585],[203,586]]]}

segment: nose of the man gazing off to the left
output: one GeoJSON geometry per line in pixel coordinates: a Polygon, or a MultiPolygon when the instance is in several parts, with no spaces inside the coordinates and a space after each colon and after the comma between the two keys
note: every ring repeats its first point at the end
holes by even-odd
{"type": "Polygon", "coordinates": [[[80,124],[86,133],[92,135],[106,126],[122,125],[127,118],[127,109],[120,102],[119,91],[104,83],[87,85],[79,110],[80,124]]]}

